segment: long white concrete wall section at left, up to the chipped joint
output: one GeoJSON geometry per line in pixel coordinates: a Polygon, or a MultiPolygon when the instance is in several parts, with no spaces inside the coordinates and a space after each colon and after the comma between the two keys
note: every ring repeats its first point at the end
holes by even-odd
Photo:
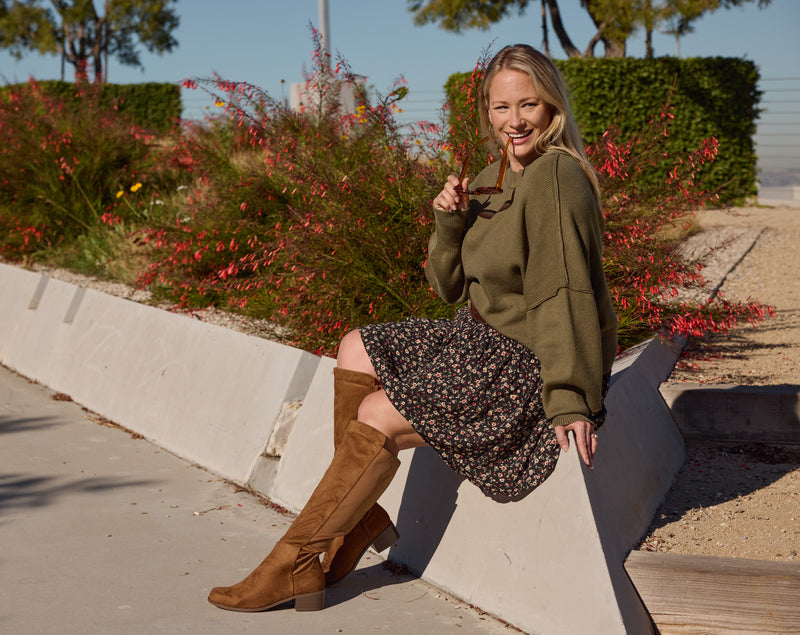
{"type": "Polygon", "coordinates": [[[0,361],[245,482],[319,358],[0,265],[0,361]]]}

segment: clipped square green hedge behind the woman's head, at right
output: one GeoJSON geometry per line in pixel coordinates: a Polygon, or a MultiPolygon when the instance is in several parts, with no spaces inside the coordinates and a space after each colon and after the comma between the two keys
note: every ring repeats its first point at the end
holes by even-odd
{"type": "MultiPolygon", "coordinates": [[[[556,65],[572,93],[587,144],[612,127],[633,136],[669,103],[675,118],[664,149],[686,152],[716,137],[719,156],[704,173],[706,187],[718,191],[724,202],[755,196],[753,134],[761,93],[754,62],[722,57],[589,58],[556,60],[556,65]]],[[[445,85],[451,117],[463,112],[459,87],[469,77],[457,73],[445,85]]]]}

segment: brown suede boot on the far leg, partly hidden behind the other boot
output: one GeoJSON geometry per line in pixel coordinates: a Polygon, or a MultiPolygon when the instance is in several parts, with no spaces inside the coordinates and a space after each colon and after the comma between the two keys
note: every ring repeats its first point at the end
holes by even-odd
{"type": "MultiPolygon", "coordinates": [[[[344,368],[333,369],[333,447],[338,448],[344,430],[358,415],[363,399],[375,390],[372,375],[344,368]]],[[[375,503],[367,510],[352,531],[334,541],[325,553],[322,569],[325,582],[336,584],[350,573],[370,545],[380,552],[391,547],[400,535],[389,514],[375,503]]]]}

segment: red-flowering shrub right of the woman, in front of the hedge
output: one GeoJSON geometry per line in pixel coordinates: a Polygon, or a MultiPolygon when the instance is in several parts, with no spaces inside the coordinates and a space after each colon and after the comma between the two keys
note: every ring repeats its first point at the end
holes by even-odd
{"type": "Polygon", "coordinates": [[[671,119],[665,109],[638,136],[621,140],[610,130],[587,148],[603,192],[604,265],[623,346],[659,331],[687,336],[727,332],[742,319],[755,322],[771,313],[758,302],[731,303],[705,289],[699,294],[707,298],[703,302],[681,299],[686,297],[681,291],[705,286],[703,265],[678,258],[679,243],[663,230],[687,230],[696,210],[717,204],[717,195],[703,188],[702,174],[704,164],[714,161],[718,143],[707,139],[691,152],[670,157],[663,141],[671,119]],[[662,165],[665,158],[672,162],[660,181],[653,174],[656,158],[662,165]]]}

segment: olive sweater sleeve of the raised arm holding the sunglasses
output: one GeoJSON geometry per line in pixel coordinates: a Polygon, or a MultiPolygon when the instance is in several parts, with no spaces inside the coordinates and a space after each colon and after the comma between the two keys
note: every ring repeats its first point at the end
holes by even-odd
{"type": "Polygon", "coordinates": [[[461,261],[467,212],[434,211],[436,227],[428,241],[425,277],[445,302],[456,304],[466,300],[467,283],[461,261]]]}

